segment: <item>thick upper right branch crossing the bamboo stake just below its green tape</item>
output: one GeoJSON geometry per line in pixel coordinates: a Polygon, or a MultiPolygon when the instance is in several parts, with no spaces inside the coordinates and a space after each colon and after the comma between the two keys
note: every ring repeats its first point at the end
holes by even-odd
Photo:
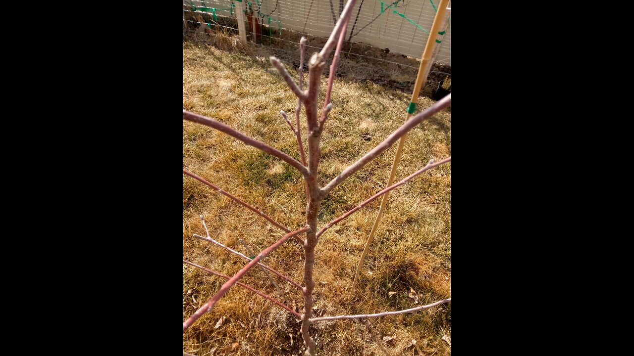
{"type": "Polygon", "coordinates": [[[332,179],[324,188],[321,189],[321,197],[326,196],[333,188],[338,186],[341,182],[343,182],[347,177],[354,174],[354,172],[363,168],[368,162],[372,161],[376,156],[380,155],[385,149],[388,149],[392,144],[396,143],[401,136],[406,134],[409,130],[413,129],[416,125],[420,124],[424,120],[432,117],[438,111],[443,110],[447,106],[451,105],[451,94],[445,96],[443,99],[437,101],[434,105],[429,106],[422,113],[418,113],[410,118],[410,120],[406,121],[401,127],[394,130],[387,138],[380,144],[378,144],[375,148],[373,148],[370,152],[366,153],[365,156],[359,158],[357,162],[354,162],[352,165],[344,169],[337,177],[332,179]]]}

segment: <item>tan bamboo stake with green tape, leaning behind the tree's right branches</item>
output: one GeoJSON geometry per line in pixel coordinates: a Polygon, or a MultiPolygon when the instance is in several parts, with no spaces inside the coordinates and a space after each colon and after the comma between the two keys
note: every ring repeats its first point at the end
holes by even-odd
{"type": "MultiPolygon", "coordinates": [[[[427,75],[429,74],[429,71],[425,70],[425,68],[427,68],[427,66],[429,65],[432,51],[436,46],[438,30],[440,29],[440,25],[444,18],[444,13],[447,10],[448,3],[449,0],[441,0],[438,6],[438,12],[436,13],[436,17],[434,17],[434,24],[432,25],[432,29],[429,31],[427,44],[425,44],[425,49],[420,60],[420,66],[418,67],[418,76],[414,84],[414,91],[411,93],[410,107],[408,108],[408,113],[405,121],[410,120],[411,115],[414,113],[416,104],[418,103],[418,94],[420,93],[420,89],[422,88],[423,83],[427,81],[427,75]]],[[[398,147],[396,148],[396,154],[394,155],[394,162],[392,163],[392,170],[390,172],[389,178],[387,179],[387,186],[391,186],[392,182],[394,182],[394,176],[396,175],[398,163],[401,160],[401,153],[403,152],[403,145],[405,143],[406,137],[407,134],[404,134],[403,137],[401,137],[401,139],[399,140],[398,147]]],[[[361,266],[363,265],[365,255],[368,253],[370,245],[372,245],[372,240],[374,239],[374,234],[377,231],[378,223],[381,220],[381,215],[383,215],[383,212],[385,210],[385,203],[387,203],[388,197],[389,193],[385,193],[385,195],[383,196],[383,200],[381,200],[381,207],[378,209],[378,214],[376,219],[374,220],[372,230],[370,231],[370,236],[368,236],[368,241],[366,241],[365,243],[363,253],[361,253],[361,258],[359,258],[359,263],[357,264],[356,271],[354,272],[354,281],[352,288],[350,289],[350,294],[348,295],[348,302],[351,302],[353,299],[354,288],[356,287],[356,283],[359,280],[359,271],[361,270],[361,266]]]]}

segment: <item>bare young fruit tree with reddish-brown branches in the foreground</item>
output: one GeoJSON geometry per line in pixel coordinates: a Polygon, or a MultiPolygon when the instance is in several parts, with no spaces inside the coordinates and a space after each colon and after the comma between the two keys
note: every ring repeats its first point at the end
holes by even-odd
{"type": "MultiPolygon", "coordinates": [[[[219,122],[217,120],[214,120],[213,118],[204,117],[202,115],[197,115],[195,113],[191,113],[190,111],[183,110],[184,120],[189,120],[191,122],[196,122],[198,124],[207,125],[209,127],[212,127],[213,129],[219,130],[223,132],[224,134],[228,134],[232,137],[235,137],[236,139],[242,141],[243,143],[249,146],[253,146],[257,149],[260,149],[261,151],[264,151],[265,153],[268,153],[269,155],[275,156],[279,158],[280,160],[283,160],[284,162],[288,163],[288,165],[290,165],[291,167],[294,167],[295,169],[297,169],[301,173],[302,177],[304,178],[304,186],[306,189],[306,196],[307,196],[305,226],[301,228],[297,228],[297,229],[290,229],[289,227],[283,226],[280,223],[276,222],[274,219],[271,219],[271,217],[266,215],[266,213],[262,212],[261,210],[258,210],[257,208],[253,207],[249,203],[243,200],[240,200],[239,198],[236,198],[236,196],[233,196],[233,194],[227,191],[224,191],[222,188],[217,187],[208,181],[205,181],[204,178],[199,177],[196,174],[192,174],[191,172],[188,172],[186,170],[183,170],[183,174],[186,174],[190,177],[193,177],[194,179],[197,179],[198,181],[202,182],[203,184],[206,184],[210,188],[217,191],[219,194],[223,194],[224,196],[227,196],[231,200],[236,201],[236,203],[243,205],[245,208],[252,210],[257,215],[260,215],[264,219],[268,220],[273,226],[278,227],[279,229],[285,232],[285,235],[282,238],[276,241],[273,245],[257,253],[255,257],[253,256],[247,257],[246,255],[243,255],[242,253],[239,253],[238,251],[232,250],[228,246],[224,246],[223,244],[214,240],[209,234],[209,230],[207,229],[207,225],[205,224],[205,220],[203,216],[200,215],[202,220],[202,226],[204,227],[207,234],[206,236],[199,236],[195,234],[194,235],[195,238],[209,241],[210,243],[220,246],[230,251],[231,253],[234,253],[244,258],[245,260],[249,261],[249,263],[246,264],[242,269],[240,269],[234,276],[225,276],[224,274],[219,274],[217,272],[214,272],[213,270],[209,270],[200,265],[193,264],[190,261],[183,260],[183,263],[185,264],[189,264],[194,267],[200,268],[202,270],[209,272],[210,274],[223,277],[224,279],[227,280],[226,283],[224,283],[223,286],[221,286],[221,288],[214,295],[212,295],[204,305],[202,305],[202,307],[198,308],[198,310],[193,315],[188,317],[183,322],[183,333],[192,324],[194,324],[202,315],[204,315],[207,312],[210,312],[210,310],[214,308],[214,305],[229,291],[229,289],[231,289],[236,284],[238,284],[238,286],[242,286],[243,288],[247,288],[250,291],[256,293],[257,295],[260,295],[270,300],[276,305],[279,305],[280,307],[287,310],[290,314],[295,315],[295,317],[297,317],[297,319],[301,321],[301,334],[304,340],[304,345],[306,346],[306,355],[311,355],[311,356],[315,354],[315,349],[316,349],[316,343],[313,337],[311,336],[311,334],[309,333],[309,326],[312,323],[320,322],[320,321],[333,321],[333,320],[340,320],[340,319],[361,319],[361,318],[380,317],[384,315],[404,314],[404,313],[415,312],[417,310],[422,310],[425,308],[434,307],[436,305],[441,305],[443,303],[451,302],[451,298],[447,298],[435,303],[431,303],[429,305],[422,305],[420,307],[410,308],[406,310],[399,310],[395,312],[382,312],[378,314],[365,314],[365,315],[339,315],[339,316],[332,316],[332,317],[313,317],[313,291],[315,287],[315,283],[313,281],[313,266],[315,263],[315,249],[318,246],[320,236],[324,232],[328,231],[328,229],[330,229],[332,226],[346,219],[347,217],[352,215],[354,212],[365,207],[365,205],[377,199],[378,197],[382,196],[383,194],[391,191],[392,189],[398,188],[399,186],[402,186],[403,184],[406,184],[417,175],[422,174],[423,172],[431,168],[437,167],[439,165],[443,165],[444,163],[448,163],[451,161],[451,156],[441,159],[438,162],[434,162],[433,159],[429,160],[429,162],[427,163],[427,165],[425,165],[425,167],[420,168],[419,170],[409,175],[408,177],[404,178],[403,180],[396,182],[395,184],[392,184],[391,186],[383,189],[382,191],[379,191],[378,193],[374,194],[373,196],[363,201],[362,203],[359,203],[356,207],[344,213],[337,219],[334,219],[328,222],[328,224],[326,224],[325,226],[321,228],[317,226],[318,212],[320,210],[321,202],[324,200],[325,197],[328,196],[328,193],[330,193],[332,189],[335,189],[345,179],[353,175],[359,169],[363,168],[368,162],[372,161],[373,158],[380,155],[382,152],[384,152],[386,149],[392,146],[392,144],[399,141],[399,139],[401,139],[401,137],[404,137],[408,131],[416,127],[418,124],[420,124],[424,120],[432,117],[435,113],[443,110],[444,108],[447,108],[451,104],[451,94],[450,94],[446,96],[445,98],[441,99],[440,101],[437,101],[437,103],[427,108],[427,110],[422,111],[421,113],[418,113],[417,115],[414,115],[413,117],[410,118],[410,120],[406,121],[403,125],[401,125],[401,127],[394,130],[392,134],[387,136],[384,139],[384,141],[382,141],[382,143],[378,144],[377,146],[375,146],[375,148],[371,149],[363,157],[359,158],[357,162],[353,163],[349,167],[342,170],[342,172],[340,172],[339,175],[337,175],[334,179],[332,179],[332,181],[328,182],[328,184],[326,184],[323,187],[319,186],[317,172],[318,172],[318,167],[320,165],[320,157],[321,157],[321,149],[320,149],[321,133],[323,132],[323,129],[327,122],[328,113],[332,109],[332,103],[330,102],[330,94],[332,90],[333,81],[335,78],[335,72],[337,70],[337,63],[339,62],[340,51],[342,49],[342,46],[344,43],[344,37],[346,35],[346,28],[351,18],[352,9],[355,3],[356,3],[356,0],[349,0],[347,2],[346,7],[344,8],[344,11],[341,13],[341,16],[339,20],[337,21],[335,28],[332,31],[332,34],[330,34],[330,37],[328,38],[328,41],[326,42],[325,46],[323,47],[323,49],[321,49],[320,52],[316,52],[311,56],[308,63],[307,89],[304,89],[304,86],[302,85],[302,69],[304,67],[303,64],[304,64],[304,50],[306,46],[306,38],[302,37],[301,44],[300,44],[300,63],[301,64],[299,66],[299,82],[295,82],[295,80],[291,77],[291,75],[287,72],[285,67],[283,67],[283,65],[280,63],[280,61],[277,58],[275,57],[270,58],[270,61],[273,67],[275,67],[276,70],[278,70],[278,72],[283,77],[283,79],[287,83],[290,90],[294,92],[295,96],[297,96],[297,106],[295,108],[295,122],[292,123],[288,119],[287,113],[285,113],[284,111],[280,111],[280,113],[281,113],[281,116],[284,118],[284,120],[286,120],[290,129],[294,132],[297,138],[297,144],[299,146],[298,149],[299,149],[299,156],[301,157],[301,162],[295,160],[294,158],[287,155],[286,153],[283,153],[282,151],[275,149],[269,146],[268,144],[257,141],[256,139],[252,139],[251,137],[243,134],[242,132],[232,129],[230,126],[223,124],[222,122],[219,122]],[[335,49],[335,45],[336,45],[336,49],[335,49]],[[324,102],[323,108],[321,108],[321,113],[320,113],[318,111],[318,94],[320,91],[321,74],[325,69],[327,58],[329,58],[333,49],[335,50],[335,53],[333,56],[332,64],[330,65],[330,75],[328,77],[328,84],[327,84],[326,94],[325,94],[325,102],[324,102]],[[300,113],[301,113],[302,105],[304,106],[304,110],[306,113],[306,120],[307,120],[307,132],[306,132],[307,144],[308,144],[307,155],[306,155],[306,152],[304,151],[304,147],[302,144],[302,132],[300,130],[300,127],[301,127],[300,113]],[[269,255],[270,253],[273,253],[277,248],[283,245],[285,241],[287,241],[290,238],[293,238],[299,241],[304,248],[303,285],[297,283],[296,281],[293,281],[287,276],[284,276],[283,274],[281,274],[275,269],[272,269],[268,265],[262,264],[262,260],[267,255],[269,255]],[[295,312],[295,310],[290,308],[287,304],[282,303],[279,300],[276,300],[272,296],[266,295],[262,293],[261,291],[258,291],[254,288],[251,288],[250,286],[247,286],[246,284],[239,282],[239,280],[247,272],[249,272],[250,269],[252,269],[253,267],[256,267],[256,265],[259,266],[261,269],[265,270],[265,272],[266,271],[271,272],[275,274],[276,276],[280,277],[281,279],[283,279],[283,281],[289,284],[292,284],[292,286],[297,288],[302,293],[302,295],[304,296],[304,308],[301,314],[298,312],[295,312]]],[[[269,279],[271,279],[271,282],[273,282],[273,279],[268,274],[268,272],[267,272],[267,275],[269,276],[269,279]]],[[[273,284],[277,288],[277,285],[274,282],[273,284]]],[[[278,288],[278,291],[280,291],[279,288],[278,288]]],[[[284,296],[283,293],[281,293],[281,291],[280,291],[280,295],[284,296]]]]}

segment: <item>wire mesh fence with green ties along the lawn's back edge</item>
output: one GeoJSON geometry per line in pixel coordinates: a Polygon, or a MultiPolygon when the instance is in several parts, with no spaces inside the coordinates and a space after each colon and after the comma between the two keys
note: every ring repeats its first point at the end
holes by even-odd
{"type": "MultiPolygon", "coordinates": [[[[218,30],[223,35],[237,35],[236,1],[183,0],[184,27],[190,34],[209,37],[207,40],[214,39],[218,30]]],[[[438,2],[359,1],[347,28],[337,74],[411,91],[438,2]]],[[[302,35],[309,39],[308,53],[321,49],[344,4],[344,0],[243,0],[237,8],[243,8],[249,41],[297,68],[302,35]]],[[[426,87],[437,86],[451,75],[451,18],[441,38],[426,87]]]]}

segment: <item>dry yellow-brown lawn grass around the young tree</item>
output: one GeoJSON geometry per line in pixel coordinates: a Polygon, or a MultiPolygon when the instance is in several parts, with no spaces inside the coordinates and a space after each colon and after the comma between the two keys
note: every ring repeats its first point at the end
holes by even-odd
{"type": "MultiPolygon", "coordinates": [[[[297,99],[262,51],[244,56],[183,42],[183,107],[225,122],[299,160],[295,137],[279,115],[280,110],[294,112],[297,99]]],[[[296,70],[289,71],[297,75],[296,70]]],[[[321,186],[403,123],[409,96],[375,84],[337,81],[332,101],[334,108],[321,141],[321,186]]],[[[420,98],[419,107],[432,103],[429,98],[420,98]]],[[[412,130],[397,179],[423,167],[430,158],[449,156],[450,127],[451,113],[444,110],[412,130]]],[[[306,122],[302,128],[305,133],[306,122]]],[[[384,188],[394,149],[335,188],[321,205],[320,227],[384,188]]],[[[183,122],[183,167],[260,208],[290,229],[304,226],[306,196],[302,177],[272,156],[209,127],[183,122]]],[[[380,199],[321,236],[314,273],[316,316],[401,310],[451,296],[451,166],[447,164],[392,192],[389,208],[366,257],[357,296],[353,303],[346,302],[379,204],[380,199]],[[416,292],[418,303],[408,296],[410,288],[416,292]],[[396,294],[389,295],[391,291],[396,294]]],[[[254,251],[260,251],[275,242],[279,238],[275,234],[281,232],[184,176],[183,258],[228,276],[235,274],[244,261],[191,237],[204,234],[199,214],[204,215],[214,239],[243,253],[246,252],[239,238],[245,239],[254,251]]],[[[265,263],[302,283],[303,251],[297,241],[289,240],[265,263]]],[[[278,297],[259,269],[251,270],[242,282],[278,297]]],[[[223,283],[224,279],[183,265],[183,320],[223,283]]],[[[295,310],[300,311],[301,293],[287,283],[278,283],[294,301],[295,310]]],[[[442,338],[451,336],[451,307],[442,305],[367,321],[318,322],[313,324],[311,333],[318,342],[318,355],[418,355],[416,346],[425,355],[449,355],[450,345],[442,338]],[[385,341],[384,337],[392,340],[385,341]],[[416,346],[411,346],[411,340],[417,341],[416,346]]],[[[232,355],[302,352],[299,322],[280,307],[238,286],[184,333],[183,342],[184,352],[195,355],[220,355],[233,343],[239,343],[239,347],[232,355]],[[223,325],[214,329],[223,316],[223,325]]]]}

